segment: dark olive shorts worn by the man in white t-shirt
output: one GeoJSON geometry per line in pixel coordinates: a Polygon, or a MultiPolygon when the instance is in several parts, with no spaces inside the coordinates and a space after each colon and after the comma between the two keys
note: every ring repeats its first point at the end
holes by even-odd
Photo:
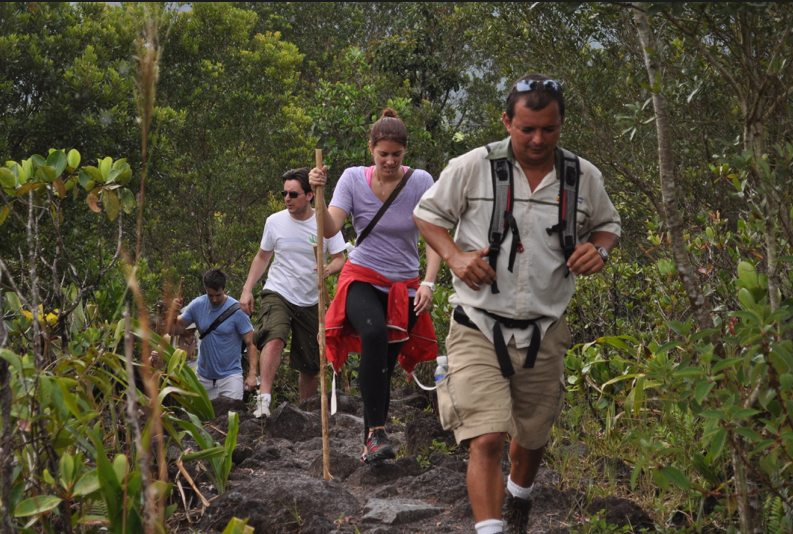
{"type": "Polygon", "coordinates": [[[309,376],[319,374],[318,306],[295,306],[275,291],[262,291],[261,315],[256,323],[253,342],[261,350],[273,339],[287,344],[292,333],[289,367],[309,376]]]}

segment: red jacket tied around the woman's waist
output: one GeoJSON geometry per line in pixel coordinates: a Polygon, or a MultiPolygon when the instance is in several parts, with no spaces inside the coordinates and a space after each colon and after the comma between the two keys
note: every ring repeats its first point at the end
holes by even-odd
{"type": "Polygon", "coordinates": [[[361,338],[346,319],[347,290],[353,282],[390,287],[388,292],[388,310],[386,311],[386,327],[388,342],[404,341],[399,353],[399,363],[408,373],[412,373],[416,364],[438,357],[438,339],[429,313],[418,316],[413,330],[408,333],[408,288],[419,288],[419,277],[404,282],[392,282],[375,270],[347,262],[339,274],[336,298],[325,315],[325,343],[328,361],[338,371],[351,352],[361,352],[361,338]]]}

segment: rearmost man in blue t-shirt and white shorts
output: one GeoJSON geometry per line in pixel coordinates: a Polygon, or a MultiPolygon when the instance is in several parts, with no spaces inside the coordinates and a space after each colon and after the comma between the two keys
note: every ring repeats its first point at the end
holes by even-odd
{"type": "MultiPolygon", "coordinates": [[[[237,309],[214,330],[206,334],[212,323],[223,312],[238,304],[226,295],[226,275],[220,269],[204,273],[206,295],[201,295],[187,305],[184,313],[177,317],[178,330],[195,323],[202,334],[201,351],[198,355],[196,374],[207,390],[209,399],[220,396],[242,400],[243,388],[256,388],[259,374],[259,355],[253,343],[253,325],[241,309],[237,309]],[[240,349],[242,343],[248,347],[250,371],[243,381],[240,349]]],[[[181,306],[181,302],[178,302],[181,306]]]]}

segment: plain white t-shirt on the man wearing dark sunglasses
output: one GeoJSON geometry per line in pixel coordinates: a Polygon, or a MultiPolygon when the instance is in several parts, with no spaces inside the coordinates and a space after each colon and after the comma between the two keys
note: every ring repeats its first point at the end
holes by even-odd
{"type": "MultiPolygon", "coordinates": [[[[295,306],[303,308],[319,302],[317,293],[317,218],[298,221],[287,210],[267,217],[261,249],[275,252],[264,289],[275,291],[295,306]]],[[[344,250],[341,232],[325,239],[325,251],[337,254],[344,250]]]]}

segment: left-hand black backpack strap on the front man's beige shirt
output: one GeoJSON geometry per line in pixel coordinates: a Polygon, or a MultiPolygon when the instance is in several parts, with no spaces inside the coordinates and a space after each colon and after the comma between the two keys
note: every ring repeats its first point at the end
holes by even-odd
{"type": "MultiPolygon", "coordinates": [[[[490,153],[490,146],[485,147],[490,153]]],[[[501,243],[507,237],[507,228],[512,230],[512,247],[509,255],[508,269],[512,272],[515,264],[515,255],[520,247],[520,235],[518,234],[518,224],[512,215],[512,205],[514,200],[514,177],[512,164],[507,158],[499,158],[490,161],[490,178],[493,182],[493,213],[490,216],[490,228],[488,229],[488,241],[490,252],[488,261],[490,267],[495,270],[498,262],[498,254],[501,252],[501,243]]],[[[493,282],[490,290],[499,293],[498,283],[493,282]]]]}

